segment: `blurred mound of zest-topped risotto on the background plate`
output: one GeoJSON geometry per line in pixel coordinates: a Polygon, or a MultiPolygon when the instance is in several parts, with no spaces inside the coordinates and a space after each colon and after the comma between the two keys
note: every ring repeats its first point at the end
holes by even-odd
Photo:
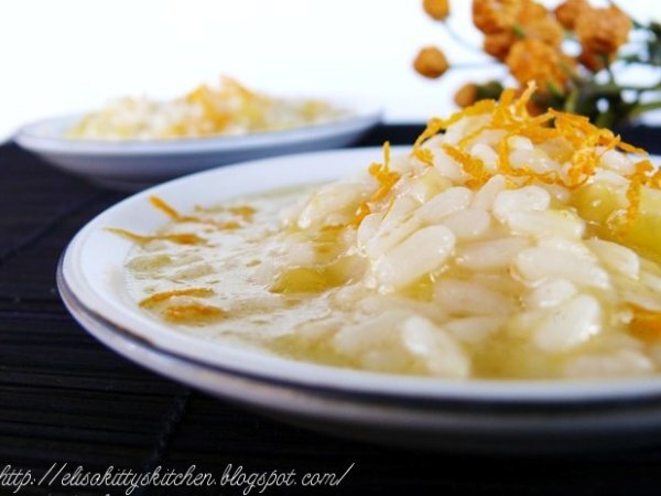
{"type": "Polygon", "coordinates": [[[218,88],[203,85],[171,101],[119,99],[85,116],[67,136],[88,140],[240,136],[323,123],[347,114],[322,100],[273,98],[225,77],[218,88]]]}

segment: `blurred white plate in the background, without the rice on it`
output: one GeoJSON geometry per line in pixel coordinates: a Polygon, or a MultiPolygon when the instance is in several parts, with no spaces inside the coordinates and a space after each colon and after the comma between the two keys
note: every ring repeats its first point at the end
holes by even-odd
{"type": "Polygon", "coordinates": [[[223,164],[351,144],[381,120],[381,110],[369,104],[335,105],[351,114],[327,123],[237,137],[149,141],[66,139],[66,131],[82,117],[75,115],[25,126],[14,139],[63,171],[107,187],[137,191],[223,164]]]}

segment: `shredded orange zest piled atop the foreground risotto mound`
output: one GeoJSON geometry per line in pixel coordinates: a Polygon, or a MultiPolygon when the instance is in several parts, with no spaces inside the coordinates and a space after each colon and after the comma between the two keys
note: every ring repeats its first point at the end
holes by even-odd
{"type": "MultiPolygon", "coordinates": [[[[621,141],[620,137],[614,134],[610,130],[594,126],[583,116],[554,109],[549,109],[539,116],[531,116],[528,111],[528,103],[534,91],[535,85],[530,83],[519,98],[516,98],[514,90],[506,89],[498,103],[495,100],[480,100],[455,112],[448,119],[431,119],[426,129],[415,141],[411,154],[421,162],[432,165],[433,152],[430,149],[422,148],[424,142],[465,117],[483,115],[490,116],[488,122],[467,132],[456,145],[443,144],[444,152],[456,161],[469,176],[466,186],[473,188],[480,187],[492,175],[500,174],[508,180],[510,186],[513,185],[514,187],[540,182],[576,191],[595,176],[600,168],[602,155],[606,151],[618,149],[633,154],[646,153],[644,150],[621,141]],[[496,171],[492,172],[487,171],[483,161],[473,157],[467,150],[474,139],[488,130],[505,131],[503,137],[495,145],[498,162],[496,171]],[[566,152],[566,160],[562,161],[566,163],[564,170],[562,172],[537,172],[527,165],[513,166],[509,160],[509,139],[512,137],[528,138],[534,144],[551,140],[562,143],[566,152]],[[602,149],[597,149],[597,147],[602,149]]],[[[620,237],[626,235],[628,226],[637,218],[641,187],[661,190],[661,172],[649,160],[636,164],[636,171],[627,179],[629,179],[629,185],[625,196],[628,205],[624,212],[626,222],[620,226],[620,237]]]]}

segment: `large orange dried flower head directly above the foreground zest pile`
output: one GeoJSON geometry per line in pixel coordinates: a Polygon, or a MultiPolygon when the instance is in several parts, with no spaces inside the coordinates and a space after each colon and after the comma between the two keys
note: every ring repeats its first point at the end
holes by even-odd
{"type": "Polygon", "coordinates": [[[562,68],[564,62],[556,48],[531,39],[514,43],[506,60],[510,73],[521,85],[535,82],[540,93],[545,91],[548,84],[564,87],[568,79],[562,68]]]}

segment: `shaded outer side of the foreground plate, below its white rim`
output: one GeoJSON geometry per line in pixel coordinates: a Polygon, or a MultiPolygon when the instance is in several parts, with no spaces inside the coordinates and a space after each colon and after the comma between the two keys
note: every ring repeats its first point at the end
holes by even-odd
{"type": "Polygon", "coordinates": [[[562,403],[560,409],[549,403],[430,403],[339,395],[208,367],[155,349],[96,321],[84,309],[75,312],[76,303],[64,289],[63,301],[75,320],[111,352],[187,387],[325,434],[441,452],[551,456],[642,448],[659,436],[659,398],[617,405],[562,403]]]}

